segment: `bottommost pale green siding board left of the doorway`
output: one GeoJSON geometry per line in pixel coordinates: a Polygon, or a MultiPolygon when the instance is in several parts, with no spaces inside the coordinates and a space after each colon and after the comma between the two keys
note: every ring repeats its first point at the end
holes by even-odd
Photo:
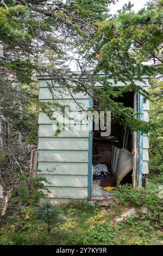
{"type": "Polygon", "coordinates": [[[48,198],[82,199],[87,198],[87,187],[47,187],[51,192],[48,198]]]}

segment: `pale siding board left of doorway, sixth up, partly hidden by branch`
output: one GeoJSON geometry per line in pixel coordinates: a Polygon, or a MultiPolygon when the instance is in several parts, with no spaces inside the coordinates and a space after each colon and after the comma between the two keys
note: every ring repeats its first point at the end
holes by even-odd
{"type": "MultiPolygon", "coordinates": [[[[89,137],[89,126],[77,124],[76,126],[71,125],[69,131],[61,131],[57,137],[89,137]]],[[[39,125],[39,137],[56,137],[55,131],[57,125],[52,124],[40,124],[39,125]]]]}

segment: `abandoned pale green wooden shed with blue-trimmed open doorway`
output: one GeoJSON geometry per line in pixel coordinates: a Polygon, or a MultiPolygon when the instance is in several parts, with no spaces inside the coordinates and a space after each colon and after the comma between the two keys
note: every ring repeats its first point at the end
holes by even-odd
{"type": "MultiPolygon", "coordinates": [[[[76,93],[72,98],[70,90],[60,87],[57,83],[55,93],[52,95],[53,89],[50,90],[48,87],[48,84],[52,84],[51,78],[48,76],[37,78],[40,80],[39,100],[50,102],[55,100],[62,105],[70,106],[70,117],[74,112],[79,111],[77,102],[80,103],[82,109],[93,106],[93,101],[88,95],[76,93]]],[[[111,78],[110,81],[113,82],[111,78]]],[[[145,83],[135,82],[148,90],[148,77],[143,77],[143,81],[145,83]]],[[[122,86],[124,84],[121,82],[114,84],[115,88],[122,86]]],[[[137,118],[148,121],[149,102],[143,102],[142,95],[126,93],[117,100],[142,113],[137,115],[137,118]]],[[[80,121],[76,121],[74,125],[72,121],[71,125],[72,129],[69,127],[56,136],[55,131],[58,129],[56,121],[49,119],[43,112],[39,114],[37,169],[41,170],[41,174],[45,174],[50,182],[50,184],[45,184],[50,191],[49,202],[67,202],[70,199],[96,196],[97,184],[99,186],[100,181],[93,180],[92,166],[98,163],[105,164],[108,173],[116,176],[118,161],[121,168],[126,168],[126,160],[123,161],[123,153],[126,154],[126,150],[131,159],[131,166],[124,175],[121,175],[116,185],[132,182],[134,186],[142,186],[142,177],[148,174],[148,135],[143,135],[140,131],[131,134],[128,130],[122,129],[118,120],[112,120],[111,134],[108,138],[103,138],[98,131],[93,130],[93,124],[81,124],[80,121]],[[125,138],[127,138],[127,143],[125,138]]]]}

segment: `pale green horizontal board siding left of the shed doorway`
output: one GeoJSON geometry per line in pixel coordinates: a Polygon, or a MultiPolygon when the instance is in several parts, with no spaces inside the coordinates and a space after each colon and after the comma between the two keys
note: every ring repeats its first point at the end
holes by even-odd
{"type": "MultiPolygon", "coordinates": [[[[51,80],[47,80],[52,84],[51,80]]],[[[72,89],[70,89],[72,93],[72,89]]],[[[67,88],[61,88],[55,83],[53,96],[47,88],[47,82],[40,80],[40,101],[53,101],[61,105],[70,106],[70,117],[80,109],[89,107],[89,96],[82,93],[73,94],[77,102],[72,99],[67,88]]],[[[80,109],[81,110],[81,109],[80,109]]],[[[71,130],[61,131],[56,137],[58,129],[55,121],[45,113],[39,114],[39,143],[38,169],[40,175],[46,175],[49,184],[45,184],[50,193],[48,200],[51,203],[65,202],[68,199],[83,199],[88,196],[88,151],[89,129],[88,124],[78,122],[74,129],[71,121],[71,130]]]]}

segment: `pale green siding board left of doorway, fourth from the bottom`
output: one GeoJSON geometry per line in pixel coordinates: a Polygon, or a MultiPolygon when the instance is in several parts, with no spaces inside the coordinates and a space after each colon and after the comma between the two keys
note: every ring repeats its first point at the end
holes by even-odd
{"type": "Polygon", "coordinates": [[[88,151],[39,150],[39,161],[45,162],[88,162],[88,151]]]}

